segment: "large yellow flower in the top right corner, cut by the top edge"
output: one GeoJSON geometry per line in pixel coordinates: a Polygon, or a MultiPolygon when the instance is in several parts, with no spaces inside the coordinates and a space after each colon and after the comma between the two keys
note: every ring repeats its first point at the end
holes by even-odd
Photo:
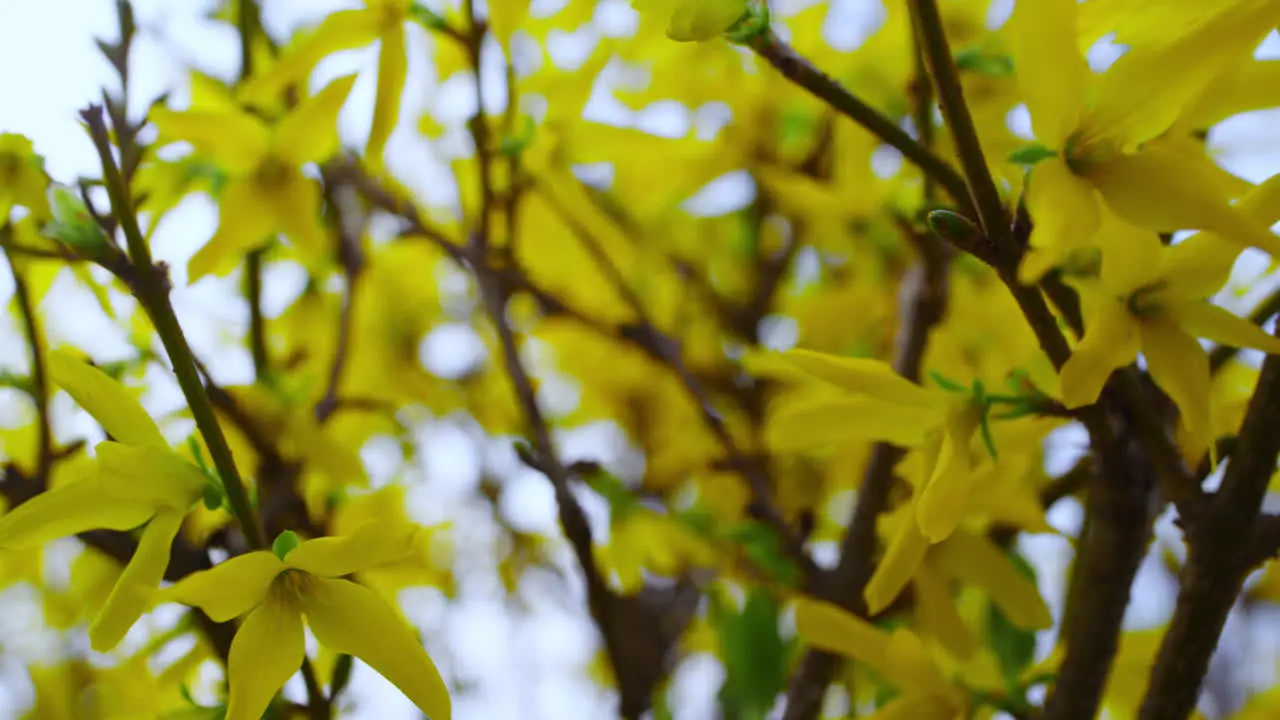
{"type": "Polygon", "coordinates": [[[1215,231],[1280,255],[1268,225],[1230,205],[1210,158],[1176,138],[1156,140],[1275,27],[1272,4],[1225,5],[1174,41],[1135,46],[1096,77],[1076,46],[1075,0],[1015,5],[1009,38],[1019,90],[1037,141],[1055,152],[1030,173],[1036,228],[1020,269],[1025,282],[1087,243],[1105,213],[1152,232],[1215,231]]]}

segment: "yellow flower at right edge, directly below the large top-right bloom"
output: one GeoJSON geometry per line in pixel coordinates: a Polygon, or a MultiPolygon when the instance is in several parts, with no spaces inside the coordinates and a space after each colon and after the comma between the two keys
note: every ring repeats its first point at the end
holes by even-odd
{"type": "Polygon", "coordinates": [[[1188,450],[1204,448],[1213,434],[1210,369],[1197,338],[1280,352],[1280,340],[1207,300],[1226,282],[1234,247],[1212,233],[1165,246],[1119,218],[1108,218],[1100,240],[1112,255],[1103,260],[1100,287],[1084,296],[1089,322],[1062,366],[1062,401],[1068,407],[1096,401],[1111,372],[1140,351],[1181,413],[1188,450]]]}

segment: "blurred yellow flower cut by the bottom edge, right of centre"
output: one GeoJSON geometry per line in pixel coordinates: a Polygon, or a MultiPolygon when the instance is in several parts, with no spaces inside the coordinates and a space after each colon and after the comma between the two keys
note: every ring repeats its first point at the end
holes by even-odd
{"type": "Polygon", "coordinates": [[[966,692],[942,675],[929,650],[911,630],[883,630],[835,605],[810,598],[800,598],[795,614],[796,633],[812,647],[863,662],[899,691],[870,717],[968,717],[966,692]]]}

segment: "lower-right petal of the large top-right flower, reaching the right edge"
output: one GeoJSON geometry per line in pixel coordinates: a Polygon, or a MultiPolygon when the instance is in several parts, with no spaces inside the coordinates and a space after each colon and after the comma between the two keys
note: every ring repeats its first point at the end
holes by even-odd
{"type": "Polygon", "coordinates": [[[1148,147],[1116,155],[1085,174],[1107,205],[1130,223],[1155,232],[1204,229],[1280,256],[1280,238],[1231,206],[1216,181],[1212,160],[1148,147]]]}

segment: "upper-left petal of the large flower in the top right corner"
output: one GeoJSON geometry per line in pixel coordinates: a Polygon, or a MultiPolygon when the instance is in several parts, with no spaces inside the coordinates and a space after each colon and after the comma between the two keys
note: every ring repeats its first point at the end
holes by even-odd
{"type": "Polygon", "coordinates": [[[1089,67],[1075,46],[1075,0],[1018,3],[1009,19],[1018,92],[1043,145],[1061,150],[1080,124],[1089,67]]]}

